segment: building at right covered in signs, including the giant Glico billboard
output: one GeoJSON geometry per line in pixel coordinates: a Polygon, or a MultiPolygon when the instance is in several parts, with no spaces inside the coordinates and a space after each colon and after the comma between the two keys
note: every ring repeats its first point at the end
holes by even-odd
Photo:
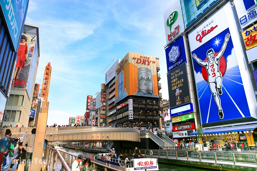
{"type": "Polygon", "coordinates": [[[198,126],[201,135],[197,131],[187,132],[188,141],[191,136],[211,143],[256,141],[256,1],[176,0],[174,3],[180,3],[181,9],[177,6],[174,9],[175,5],[172,5],[169,14],[164,13],[165,30],[168,31],[165,35],[167,69],[171,69],[168,84],[173,137],[182,139],[185,137],[183,131],[198,126]],[[184,27],[178,22],[183,22],[184,27]],[[174,31],[178,27],[173,27],[178,25],[180,31],[180,28],[184,30],[177,35],[174,31]],[[181,59],[181,52],[178,54],[181,47],[176,45],[181,37],[185,60],[181,59]],[[178,58],[175,64],[174,60],[178,58]],[[184,73],[185,70],[180,68],[183,64],[189,83],[191,112],[188,112],[191,106],[186,107],[189,101],[184,97],[185,90],[174,85],[172,77],[177,71],[184,73]],[[181,111],[171,105],[174,95],[174,105],[184,107],[182,111],[187,115],[181,115],[181,111]],[[189,125],[193,119],[195,125],[189,125]],[[182,120],[187,124],[180,125],[182,120]]]}

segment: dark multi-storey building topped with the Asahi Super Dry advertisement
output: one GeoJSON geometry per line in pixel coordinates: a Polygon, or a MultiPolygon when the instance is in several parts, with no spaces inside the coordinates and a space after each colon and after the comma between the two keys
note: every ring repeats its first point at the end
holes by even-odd
{"type": "Polygon", "coordinates": [[[160,126],[159,70],[159,58],[132,52],[117,64],[115,78],[111,77],[106,86],[107,125],[142,129],[160,126]]]}

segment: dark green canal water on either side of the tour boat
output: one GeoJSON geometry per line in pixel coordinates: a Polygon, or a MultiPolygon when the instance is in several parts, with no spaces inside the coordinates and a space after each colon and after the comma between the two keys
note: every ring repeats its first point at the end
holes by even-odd
{"type": "MultiPolygon", "coordinates": [[[[55,146],[56,147],[56,146],[55,146]]],[[[62,148],[62,147],[56,147],[58,150],[62,150],[68,153],[71,153],[75,156],[78,156],[79,154],[83,155],[83,158],[90,158],[90,160],[93,160],[93,157],[96,155],[95,153],[88,153],[83,150],[73,150],[69,148],[62,148]]],[[[159,170],[169,170],[169,171],[214,171],[213,169],[202,169],[202,168],[196,168],[192,166],[180,166],[175,164],[164,164],[164,163],[158,163],[159,170]]],[[[217,170],[215,170],[217,171],[217,170]]]]}

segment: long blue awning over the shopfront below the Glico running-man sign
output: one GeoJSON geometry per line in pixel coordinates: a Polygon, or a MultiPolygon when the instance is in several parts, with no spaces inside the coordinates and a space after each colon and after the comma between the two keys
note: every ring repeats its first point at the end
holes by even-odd
{"type": "MultiPolygon", "coordinates": [[[[216,128],[216,129],[206,129],[202,130],[203,134],[218,134],[218,133],[228,133],[228,132],[238,132],[238,131],[251,131],[256,128],[257,125],[244,125],[238,127],[226,127],[226,128],[216,128]]],[[[197,131],[190,133],[190,135],[196,135],[197,131]]]]}

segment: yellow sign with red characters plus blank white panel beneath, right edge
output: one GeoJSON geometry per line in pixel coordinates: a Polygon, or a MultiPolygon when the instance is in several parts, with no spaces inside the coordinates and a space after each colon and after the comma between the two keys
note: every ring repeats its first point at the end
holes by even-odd
{"type": "Polygon", "coordinates": [[[249,62],[254,62],[257,60],[257,24],[251,26],[250,28],[242,32],[244,39],[244,44],[246,48],[246,54],[249,62]]]}

